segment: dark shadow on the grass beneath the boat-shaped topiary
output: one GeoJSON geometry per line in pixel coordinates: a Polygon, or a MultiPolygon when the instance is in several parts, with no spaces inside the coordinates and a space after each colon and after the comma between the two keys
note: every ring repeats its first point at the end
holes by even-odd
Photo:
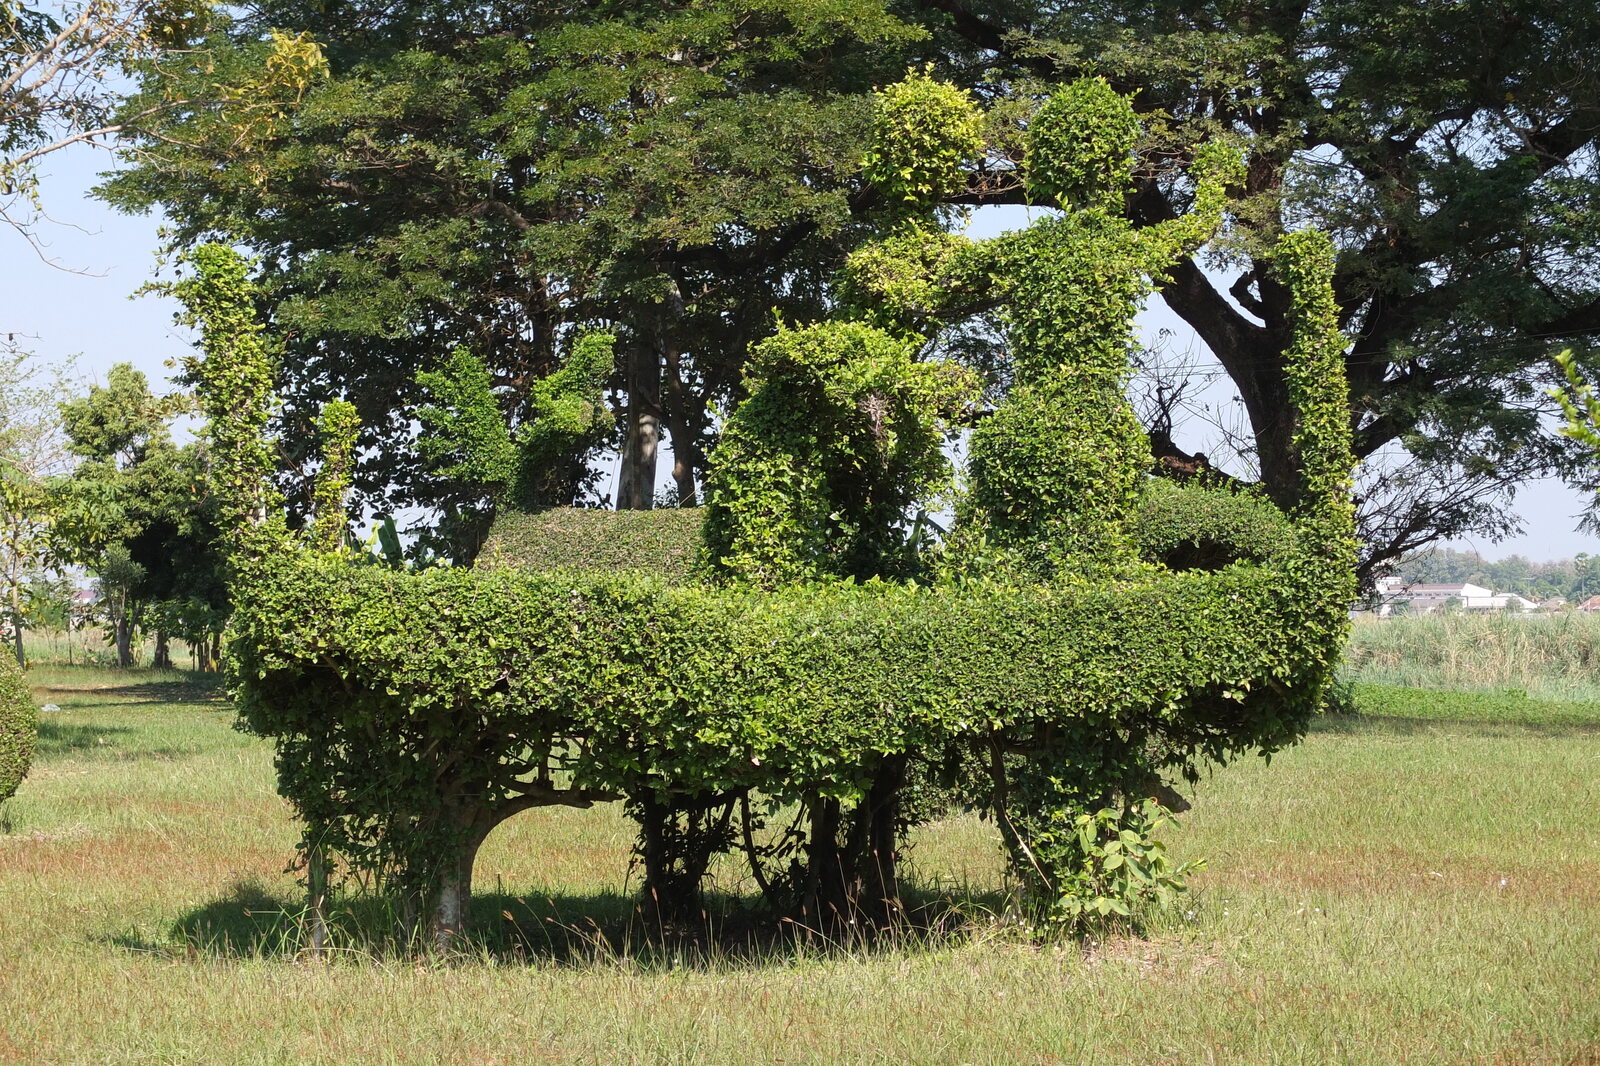
{"type": "MultiPolygon", "coordinates": [[[[632,895],[485,893],[472,898],[470,933],[453,957],[509,965],[754,968],[787,965],[797,957],[955,943],[971,936],[981,924],[989,925],[1002,909],[998,895],[912,893],[896,928],[872,938],[842,940],[821,936],[790,919],[774,919],[757,896],[712,893],[702,922],[653,928],[632,895]]],[[[333,959],[398,959],[408,954],[400,928],[400,914],[390,901],[342,898],[330,908],[328,952],[333,959]]],[[[291,960],[306,956],[309,941],[301,898],[245,880],[222,898],[181,916],[166,938],[122,935],[109,943],[170,959],[291,960]]]]}

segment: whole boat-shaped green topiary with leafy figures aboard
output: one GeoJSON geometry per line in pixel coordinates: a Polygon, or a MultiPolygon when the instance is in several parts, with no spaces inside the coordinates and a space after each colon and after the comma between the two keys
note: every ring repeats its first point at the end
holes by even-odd
{"type": "MultiPolygon", "coordinates": [[[[926,88],[885,96],[890,112],[934,104],[962,109],[926,88]]],[[[496,824],[626,800],[650,896],[674,914],[736,847],[726,812],[754,800],[805,815],[787,871],[763,877],[752,855],[774,903],[886,920],[909,784],[952,763],[981,781],[968,795],[998,821],[1037,922],[1083,928],[1173,887],[1149,797],[1294,743],[1331,675],[1354,595],[1352,459],[1333,250],[1293,234],[1277,274],[1296,309],[1299,501],[1147,482],[1122,395],[1128,322],[1218,226],[1237,160],[1200,152],[1195,213],[1136,232],[1086,184],[1126,178],[1131,141],[1104,142],[1130,136],[1125,112],[1093,80],[1046,106],[1035,158],[1093,147],[1046,176],[1085,205],[1061,219],[957,246],[907,194],[901,229],[853,264],[862,320],[786,331],[755,360],[698,567],[683,512],[518,519],[475,570],[387,571],[242,535],[235,691],[304,820],[314,904],[338,856],[445,943],[496,824]],[[1077,114],[1093,136],[1067,136],[1077,114]],[[886,522],[938,490],[938,432],[973,386],[912,359],[907,323],[974,299],[1008,317],[1016,387],[974,439],[949,551],[907,581],[906,530],[886,522]],[[798,395],[814,424],[786,421],[798,395]],[[618,565],[635,557],[624,543],[656,562],[618,565]]],[[[968,150],[955,125],[958,144],[915,150],[968,150]]],[[[206,344],[206,363],[256,379],[229,362],[240,346],[206,344]]],[[[205,365],[197,378],[208,387],[205,365]]]]}

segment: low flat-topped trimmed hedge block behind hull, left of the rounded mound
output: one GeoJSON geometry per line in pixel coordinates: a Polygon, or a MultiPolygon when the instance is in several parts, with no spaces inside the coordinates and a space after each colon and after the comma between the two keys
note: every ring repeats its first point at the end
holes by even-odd
{"type": "Polygon", "coordinates": [[[682,584],[694,575],[704,511],[550,507],[494,520],[477,565],[490,570],[637,573],[682,584]]]}

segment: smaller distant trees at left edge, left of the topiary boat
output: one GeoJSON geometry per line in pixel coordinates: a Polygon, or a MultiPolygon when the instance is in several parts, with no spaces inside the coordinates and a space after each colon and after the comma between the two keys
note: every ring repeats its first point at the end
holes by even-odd
{"type": "Polygon", "coordinates": [[[157,397],[128,363],[77,392],[62,368],[0,362],[0,602],[11,653],[27,629],[102,626],[120,666],[142,637],[213,669],[227,619],[203,440],[176,443],[184,397],[157,397]],[[77,600],[78,570],[94,602],[77,600]]]}

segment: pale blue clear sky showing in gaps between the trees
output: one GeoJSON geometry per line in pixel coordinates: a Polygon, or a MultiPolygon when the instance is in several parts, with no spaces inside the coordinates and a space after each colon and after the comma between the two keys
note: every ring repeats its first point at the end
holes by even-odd
{"type": "MultiPolygon", "coordinates": [[[[45,157],[43,200],[53,221],[37,227],[45,262],[10,230],[0,230],[0,330],[16,335],[21,347],[50,360],[77,355],[78,371],[90,379],[104,378],[117,362],[130,362],[152,384],[166,381],[170,362],[187,351],[187,335],[173,327],[173,301],[157,296],[130,299],[157,269],[155,248],[160,219],[126,218],[93,200],[88,189],[110,157],[94,149],[70,149],[45,157]]],[[[1016,211],[995,213],[974,221],[974,235],[989,235],[1018,224],[1016,211]]],[[[1208,359],[1194,331],[1160,301],[1139,317],[1147,343],[1166,331],[1165,343],[1176,352],[1198,352],[1208,359]]],[[[1226,378],[1224,378],[1226,383],[1226,378]]],[[[1203,397],[1226,408],[1232,397],[1213,386],[1203,397]]],[[[1179,429],[1187,450],[1219,450],[1203,431],[1179,429]]],[[[662,463],[662,483],[667,483],[662,463]]],[[[1517,496],[1525,531],[1498,544],[1464,541],[1454,547],[1474,549],[1488,559],[1510,554],[1534,560],[1562,559],[1600,551],[1600,539],[1576,530],[1584,498],[1560,482],[1534,482],[1517,496]]]]}

